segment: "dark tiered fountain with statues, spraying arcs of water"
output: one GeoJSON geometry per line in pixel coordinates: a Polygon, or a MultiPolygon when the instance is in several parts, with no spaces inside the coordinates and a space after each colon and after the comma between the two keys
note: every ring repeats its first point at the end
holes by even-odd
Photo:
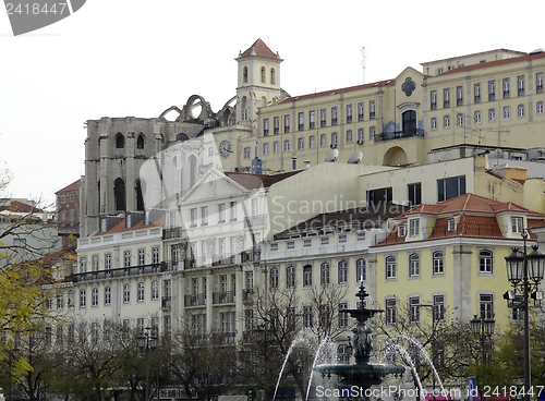
{"type": "Polygon", "coordinates": [[[360,291],[355,294],[360,299],[360,305],[355,309],[344,309],[351,317],[358,319],[358,325],[352,332],[352,345],[354,351],[355,364],[323,364],[314,367],[314,370],[323,376],[336,375],[340,377],[340,382],[346,386],[358,386],[361,390],[367,390],[372,386],[383,382],[387,375],[393,374],[400,376],[404,373],[404,366],[372,364],[370,363],[372,344],[372,330],[366,326],[366,321],[382,309],[367,309],[365,307],[365,297],[370,294],[365,291],[363,282],[360,284],[360,291]]]}

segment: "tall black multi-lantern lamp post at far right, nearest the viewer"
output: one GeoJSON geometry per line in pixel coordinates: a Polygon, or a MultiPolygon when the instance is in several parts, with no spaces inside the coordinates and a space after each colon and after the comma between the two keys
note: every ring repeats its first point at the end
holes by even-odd
{"type": "MultiPolygon", "coordinates": [[[[530,401],[530,325],[529,325],[529,296],[532,294],[534,300],[537,299],[537,287],[543,280],[545,255],[537,252],[537,245],[532,245],[532,252],[526,252],[528,230],[524,229],[522,240],[524,242],[523,252],[517,247],[506,259],[507,279],[511,282],[514,291],[508,291],[504,297],[510,302],[509,306],[521,306],[524,318],[524,400],[530,401]],[[522,292],[522,302],[517,304],[517,294],[522,292]]],[[[541,293],[540,293],[541,294],[541,293]]]]}

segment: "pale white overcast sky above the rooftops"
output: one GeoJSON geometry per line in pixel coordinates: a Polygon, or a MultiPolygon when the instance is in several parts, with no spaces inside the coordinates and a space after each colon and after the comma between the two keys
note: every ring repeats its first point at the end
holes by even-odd
{"type": "MultiPolygon", "coordinates": [[[[0,5],[1,7],[1,5],[0,5]]],[[[14,37],[0,14],[0,168],[9,194],[55,200],[84,173],[84,122],[159,117],[235,94],[239,51],[257,38],[284,59],[281,86],[304,95],[395,78],[421,62],[497,48],[545,48],[543,1],[87,0],[14,37]]]]}

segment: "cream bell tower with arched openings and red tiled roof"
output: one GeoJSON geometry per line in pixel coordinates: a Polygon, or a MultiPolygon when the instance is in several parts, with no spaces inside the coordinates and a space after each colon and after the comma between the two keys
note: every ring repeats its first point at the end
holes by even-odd
{"type": "Polygon", "coordinates": [[[281,98],[280,63],[262,39],[257,39],[235,59],[239,63],[237,122],[257,126],[257,109],[281,98]]]}

